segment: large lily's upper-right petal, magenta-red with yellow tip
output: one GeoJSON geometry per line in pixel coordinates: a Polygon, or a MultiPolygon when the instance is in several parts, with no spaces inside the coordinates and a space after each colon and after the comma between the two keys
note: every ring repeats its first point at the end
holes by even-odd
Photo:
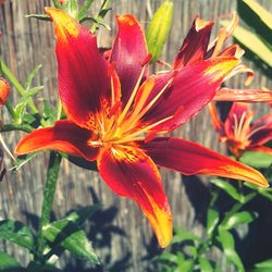
{"type": "MultiPolygon", "coordinates": [[[[171,73],[175,74],[173,82],[143,120],[148,123],[156,123],[173,116],[173,119],[157,126],[154,128],[157,131],[173,131],[186,123],[212,100],[224,76],[237,62],[233,58],[215,58],[165,73],[164,76],[168,78],[171,73]]],[[[157,84],[161,85],[162,82],[162,77],[156,81],[154,90],[157,92],[160,91],[157,84]]],[[[154,97],[153,92],[151,92],[152,97],[154,97]]]]}

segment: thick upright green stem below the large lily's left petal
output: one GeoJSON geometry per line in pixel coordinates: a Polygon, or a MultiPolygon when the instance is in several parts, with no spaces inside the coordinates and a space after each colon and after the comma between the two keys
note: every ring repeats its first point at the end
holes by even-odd
{"type": "Polygon", "coordinates": [[[40,217],[39,228],[38,228],[37,256],[35,258],[36,261],[42,261],[42,252],[45,248],[42,228],[45,225],[50,223],[50,214],[51,214],[52,203],[54,199],[60,163],[61,163],[61,156],[54,151],[50,152],[49,165],[48,165],[48,171],[47,171],[47,182],[46,182],[46,187],[44,190],[41,217],[40,217]]]}

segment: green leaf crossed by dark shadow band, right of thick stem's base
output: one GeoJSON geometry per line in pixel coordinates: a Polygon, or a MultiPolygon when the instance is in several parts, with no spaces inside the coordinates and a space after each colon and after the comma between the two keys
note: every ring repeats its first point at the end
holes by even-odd
{"type": "Polygon", "coordinates": [[[69,220],[62,219],[45,225],[42,235],[46,239],[53,243],[53,246],[61,245],[77,258],[91,263],[99,263],[97,255],[84,231],[69,220]]]}

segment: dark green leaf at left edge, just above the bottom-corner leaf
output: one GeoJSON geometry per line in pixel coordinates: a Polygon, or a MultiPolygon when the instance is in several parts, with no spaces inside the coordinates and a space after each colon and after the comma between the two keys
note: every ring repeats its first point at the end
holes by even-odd
{"type": "Polygon", "coordinates": [[[34,235],[22,222],[3,220],[0,222],[0,238],[34,250],[34,235]]]}

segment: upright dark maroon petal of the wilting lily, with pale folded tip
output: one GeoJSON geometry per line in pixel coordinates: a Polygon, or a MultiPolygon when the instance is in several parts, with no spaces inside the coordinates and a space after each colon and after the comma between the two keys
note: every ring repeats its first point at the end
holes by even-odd
{"type": "Polygon", "coordinates": [[[195,18],[187,37],[185,38],[174,60],[174,69],[184,67],[203,60],[207,52],[213,22],[195,18]]]}

